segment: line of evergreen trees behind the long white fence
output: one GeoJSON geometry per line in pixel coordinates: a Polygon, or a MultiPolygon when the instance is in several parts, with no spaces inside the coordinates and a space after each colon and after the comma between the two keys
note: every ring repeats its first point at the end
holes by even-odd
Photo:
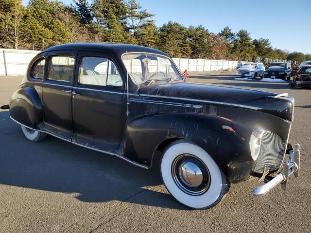
{"type": "Polygon", "coordinates": [[[202,25],[169,21],[156,27],[136,0],[0,1],[0,47],[43,50],[70,42],[115,42],[162,50],[174,58],[251,61],[253,57],[311,60],[311,54],[273,48],[269,39],[254,39],[246,30],[225,27],[220,33],[202,25]]]}

